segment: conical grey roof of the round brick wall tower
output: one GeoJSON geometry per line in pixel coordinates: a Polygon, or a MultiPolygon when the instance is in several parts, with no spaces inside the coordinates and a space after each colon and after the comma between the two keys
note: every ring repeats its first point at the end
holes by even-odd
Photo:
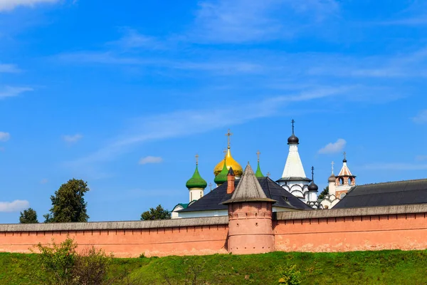
{"type": "Polygon", "coordinates": [[[246,166],[245,172],[241,181],[238,183],[236,190],[233,192],[231,199],[223,202],[222,204],[230,204],[235,202],[277,202],[268,198],[265,195],[263,188],[258,182],[258,179],[253,173],[251,165],[246,166]]]}

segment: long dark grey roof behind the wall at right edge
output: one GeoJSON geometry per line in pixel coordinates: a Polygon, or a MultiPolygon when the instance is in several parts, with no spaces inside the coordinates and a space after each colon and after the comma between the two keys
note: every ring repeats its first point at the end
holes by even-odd
{"type": "Polygon", "coordinates": [[[352,187],[334,209],[427,203],[427,179],[352,187]]]}

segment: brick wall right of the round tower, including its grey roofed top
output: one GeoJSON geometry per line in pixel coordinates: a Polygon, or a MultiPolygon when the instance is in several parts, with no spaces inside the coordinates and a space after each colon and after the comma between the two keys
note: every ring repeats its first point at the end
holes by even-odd
{"type": "Polygon", "coordinates": [[[349,252],[427,249],[427,204],[282,212],[275,250],[349,252]]]}

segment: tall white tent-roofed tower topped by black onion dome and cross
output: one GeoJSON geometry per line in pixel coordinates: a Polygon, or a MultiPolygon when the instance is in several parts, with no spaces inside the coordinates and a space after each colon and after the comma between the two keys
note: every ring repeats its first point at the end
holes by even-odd
{"type": "Polygon", "coordinates": [[[300,154],[298,153],[300,140],[295,136],[295,120],[292,120],[291,123],[292,135],[288,138],[288,158],[286,159],[282,177],[276,182],[278,182],[278,185],[282,186],[285,190],[292,193],[292,195],[307,203],[305,197],[307,193],[307,186],[311,180],[305,176],[304,167],[302,167],[300,154]]]}

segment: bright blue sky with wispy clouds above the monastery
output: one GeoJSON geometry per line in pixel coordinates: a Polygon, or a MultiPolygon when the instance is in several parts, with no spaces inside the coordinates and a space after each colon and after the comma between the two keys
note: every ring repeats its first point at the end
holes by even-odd
{"type": "Polygon", "coordinates": [[[292,118],[320,187],[344,150],[358,184],[425,178],[426,38],[425,1],[0,0],[0,223],[72,177],[90,221],[172,209],[228,128],[278,179],[292,118]]]}

